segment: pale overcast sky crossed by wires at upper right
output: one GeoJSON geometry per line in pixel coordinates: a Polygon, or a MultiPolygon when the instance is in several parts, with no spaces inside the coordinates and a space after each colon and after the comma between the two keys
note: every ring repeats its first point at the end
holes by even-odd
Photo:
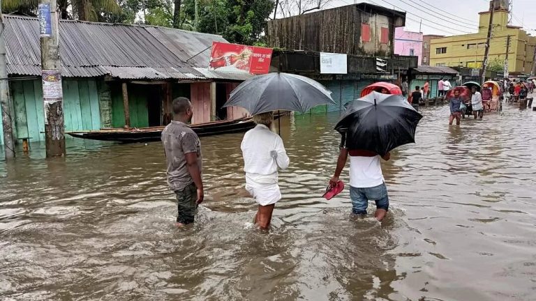
{"type": "MultiPolygon", "coordinates": [[[[326,8],[368,2],[407,12],[405,29],[424,34],[452,36],[473,33],[478,28],[478,13],[489,9],[489,0],[333,0],[326,8]],[[419,8],[419,9],[417,9],[419,8]]],[[[536,0],[513,0],[512,24],[523,26],[536,36],[536,0]]]]}

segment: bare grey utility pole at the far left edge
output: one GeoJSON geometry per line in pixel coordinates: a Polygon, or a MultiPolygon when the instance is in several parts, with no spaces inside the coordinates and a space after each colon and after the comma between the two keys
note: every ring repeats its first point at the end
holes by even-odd
{"type": "MultiPolygon", "coordinates": [[[[2,1],[0,0],[0,8],[2,1]]],[[[3,127],[3,151],[6,160],[15,158],[13,141],[13,118],[11,117],[11,105],[9,100],[8,65],[6,63],[6,34],[3,26],[3,15],[0,9],[0,102],[2,111],[3,127]]]]}

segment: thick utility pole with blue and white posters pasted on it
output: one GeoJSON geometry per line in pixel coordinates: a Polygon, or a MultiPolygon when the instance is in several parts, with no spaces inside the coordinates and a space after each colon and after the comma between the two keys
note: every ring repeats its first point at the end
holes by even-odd
{"type": "Polygon", "coordinates": [[[64,93],[59,61],[59,20],[56,0],[41,0],[38,6],[41,40],[41,75],[45,109],[47,157],[65,155],[64,93]]]}

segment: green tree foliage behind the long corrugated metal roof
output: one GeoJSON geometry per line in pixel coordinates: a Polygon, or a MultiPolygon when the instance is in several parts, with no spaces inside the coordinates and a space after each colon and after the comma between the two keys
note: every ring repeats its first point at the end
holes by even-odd
{"type": "MultiPolygon", "coordinates": [[[[2,8],[36,15],[38,1],[3,0],[2,8]]],[[[246,45],[263,45],[274,6],[274,0],[58,0],[62,19],[175,27],[246,45]]]]}

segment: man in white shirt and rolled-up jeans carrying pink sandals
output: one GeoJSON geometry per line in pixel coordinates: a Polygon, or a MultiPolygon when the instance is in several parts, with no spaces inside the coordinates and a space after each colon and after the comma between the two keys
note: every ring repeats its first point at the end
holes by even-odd
{"type": "Polygon", "coordinates": [[[389,196],[383,178],[380,158],[389,160],[391,154],[380,156],[377,153],[364,150],[348,149],[346,134],[341,140],[341,151],[338,155],[337,167],[329,183],[335,185],[341,176],[346,160],[350,155],[350,199],[352,200],[352,213],[366,215],[368,201],[375,201],[376,212],[374,216],[378,221],[385,217],[389,210],[389,196]]]}

